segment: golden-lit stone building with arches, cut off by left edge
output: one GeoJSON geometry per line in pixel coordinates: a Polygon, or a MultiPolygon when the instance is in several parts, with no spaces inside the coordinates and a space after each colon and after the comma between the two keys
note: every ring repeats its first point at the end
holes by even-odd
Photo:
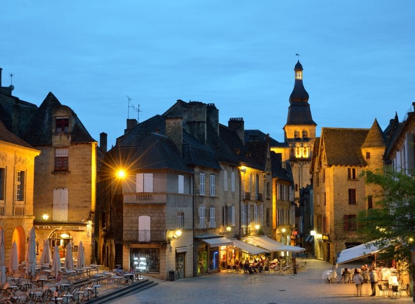
{"type": "Polygon", "coordinates": [[[0,227],[5,235],[6,261],[13,242],[17,245],[18,261],[26,259],[26,235],[34,218],[34,159],[39,153],[0,121],[0,227]]]}

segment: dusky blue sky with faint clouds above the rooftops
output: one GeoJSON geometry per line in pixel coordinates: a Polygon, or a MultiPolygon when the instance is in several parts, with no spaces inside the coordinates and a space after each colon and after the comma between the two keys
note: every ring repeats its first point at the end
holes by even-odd
{"type": "MultiPolygon", "coordinates": [[[[415,101],[413,1],[7,1],[3,86],[37,105],[49,91],[108,146],[128,98],[139,121],[177,99],[215,103],[283,141],[296,53],[321,127],[382,129],[415,101]]],[[[137,118],[130,110],[129,118],[137,118]]]]}

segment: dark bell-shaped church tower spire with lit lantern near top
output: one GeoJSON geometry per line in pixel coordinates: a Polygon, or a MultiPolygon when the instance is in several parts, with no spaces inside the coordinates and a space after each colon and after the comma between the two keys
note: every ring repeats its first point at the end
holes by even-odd
{"type": "Polygon", "coordinates": [[[289,96],[287,125],[317,125],[311,117],[308,93],[303,85],[303,66],[297,61],[294,67],[294,89],[289,96]]]}

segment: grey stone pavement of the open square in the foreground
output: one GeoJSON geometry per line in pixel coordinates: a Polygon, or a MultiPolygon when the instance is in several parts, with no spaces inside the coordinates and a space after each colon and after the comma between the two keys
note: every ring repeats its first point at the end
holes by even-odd
{"type": "MultiPolygon", "coordinates": [[[[361,264],[344,264],[341,268],[360,266],[361,264]]],[[[363,296],[357,297],[355,284],[328,284],[322,280],[322,272],[331,268],[327,262],[307,259],[307,269],[295,276],[220,272],[173,282],[148,277],[159,284],[111,303],[412,303],[412,298],[406,296],[406,293],[400,298],[371,297],[370,284],[367,283],[363,284],[363,296]]]]}

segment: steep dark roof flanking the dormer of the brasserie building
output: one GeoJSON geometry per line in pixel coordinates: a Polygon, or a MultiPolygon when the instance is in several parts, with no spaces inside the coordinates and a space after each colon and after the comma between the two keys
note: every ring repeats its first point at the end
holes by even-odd
{"type": "MultiPolygon", "coordinates": [[[[25,134],[22,136],[31,145],[51,145],[52,144],[52,119],[53,110],[62,104],[49,92],[45,100],[40,104],[37,111],[28,123],[25,134]]],[[[72,111],[74,126],[71,134],[72,143],[95,142],[87,129],[82,125],[76,113],[72,111]]]]}

